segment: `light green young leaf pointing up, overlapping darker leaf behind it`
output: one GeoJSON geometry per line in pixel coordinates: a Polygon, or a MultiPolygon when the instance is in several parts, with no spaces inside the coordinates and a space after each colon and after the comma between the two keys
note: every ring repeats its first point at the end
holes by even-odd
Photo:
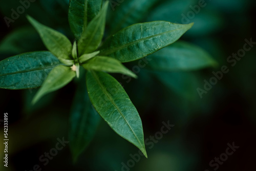
{"type": "Polygon", "coordinates": [[[79,56],[86,53],[92,53],[99,47],[104,34],[108,4],[108,1],[104,3],[98,15],[93,18],[87,29],[83,30],[82,35],[78,41],[79,56]]]}

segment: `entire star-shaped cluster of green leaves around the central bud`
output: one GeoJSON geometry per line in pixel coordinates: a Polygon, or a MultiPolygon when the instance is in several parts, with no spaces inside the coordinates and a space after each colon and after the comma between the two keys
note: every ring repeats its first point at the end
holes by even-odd
{"type": "Polygon", "coordinates": [[[98,118],[94,116],[92,105],[118,135],[137,146],[147,157],[138,111],[121,84],[108,73],[137,78],[122,63],[151,54],[155,62],[148,67],[157,70],[197,70],[216,65],[214,59],[197,46],[182,41],[173,44],[193,23],[154,21],[135,24],[139,22],[136,15],[140,10],[145,13],[154,3],[151,1],[143,9],[142,1],[132,1],[130,6],[119,8],[117,11],[123,13],[114,19],[119,24],[109,31],[114,34],[104,40],[109,2],[102,5],[99,0],[71,0],[68,15],[75,38],[73,45],[66,35],[27,16],[48,51],[23,53],[0,61],[3,68],[0,88],[16,90],[41,86],[32,100],[36,103],[42,96],[66,86],[76,76],[79,84],[69,132],[74,159],[88,146],[97,129],[98,118]],[[133,13],[134,20],[125,21],[126,13],[135,7],[132,3],[138,3],[141,8],[133,13]]]}

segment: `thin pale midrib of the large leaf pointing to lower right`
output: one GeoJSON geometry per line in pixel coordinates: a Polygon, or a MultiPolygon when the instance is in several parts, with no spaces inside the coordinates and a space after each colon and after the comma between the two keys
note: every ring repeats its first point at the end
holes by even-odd
{"type": "Polygon", "coordinates": [[[95,80],[97,81],[97,83],[99,84],[101,90],[103,91],[103,93],[108,97],[108,99],[111,101],[111,103],[115,106],[115,108],[117,109],[117,111],[120,113],[120,115],[123,117],[123,119],[125,120],[125,122],[127,123],[127,125],[129,125],[131,131],[133,132],[134,136],[136,137],[137,141],[140,143],[141,147],[143,147],[143,145],[141,144],[141,142],[139,141],[138,137],[136,136],[135,132],[133,131],[131,125],[127,122],[127,120],[125,119],[125,117],[123,116],[122,112],[120,111],[120,109],[118,108],[118,106],[116,105],[116,103],[113,101],[113,99],[111,98],[111,96],[109,95],[108,92],[105,91],[103,85],[101,84],[101,82],[99,81],[98,76],[95,74],[94,71],[91,71],[93,77],[95,78],[95,80]]]}

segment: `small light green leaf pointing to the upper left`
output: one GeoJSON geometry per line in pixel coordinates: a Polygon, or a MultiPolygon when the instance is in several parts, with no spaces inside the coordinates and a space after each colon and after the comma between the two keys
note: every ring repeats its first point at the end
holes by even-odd
{"type": "Polygon", "coordinates": [[[56,30],[38,23],[32,17],[27,16],[27,18],[40,34],[47,49],[56,55],[61,62],[72,65],[74,62],[71,58],[72,45],[69,39],[56,30]]]}

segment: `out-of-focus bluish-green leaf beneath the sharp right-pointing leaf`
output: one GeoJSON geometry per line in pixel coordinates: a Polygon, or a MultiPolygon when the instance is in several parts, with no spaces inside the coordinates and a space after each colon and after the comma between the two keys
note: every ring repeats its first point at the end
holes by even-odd
{"type": "Polygon", "coordinates": [[[162,71],[197,70],[217,65],[206,51],[185,41],[177,41],[148,57],[154,61],[147,66],[162,71]]]}

